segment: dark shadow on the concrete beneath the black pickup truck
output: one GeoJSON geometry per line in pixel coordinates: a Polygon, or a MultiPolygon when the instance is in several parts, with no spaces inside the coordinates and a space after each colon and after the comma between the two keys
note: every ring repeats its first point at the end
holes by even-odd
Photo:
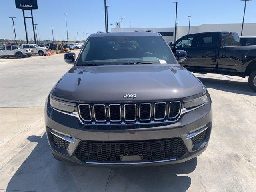
{"type": "Polygon", "coordinates": [[[248,82],[204,78],[204,77],[198,77],[198,79],[200,79],[200,81],[202,81],[207,88],[213,88],[213,89],[222,90],[226,92],[256,96],[256,92],[251,90],[251,88],[248,85],[248,82]]]}

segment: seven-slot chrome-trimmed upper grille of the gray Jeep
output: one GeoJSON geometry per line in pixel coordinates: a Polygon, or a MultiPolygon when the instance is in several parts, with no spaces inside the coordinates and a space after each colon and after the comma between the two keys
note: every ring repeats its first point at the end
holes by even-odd
{"type": "Polygon", "coordinates": [[[135,122],[175,121],[179,118],[180,101],[136,104],[79,104],[79,116],[85,123],[126,124],[135,122]]]}

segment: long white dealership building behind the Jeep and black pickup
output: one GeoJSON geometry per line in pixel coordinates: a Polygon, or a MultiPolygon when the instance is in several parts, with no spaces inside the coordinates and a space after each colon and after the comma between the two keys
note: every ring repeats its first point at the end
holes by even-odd
{"type": "MultiPolygon", "coordinates": [[[[212,31],[232,31],[238,32],[240,35],[242,29],[242,23],[232,23],[232,24],[202,24],[199,26],[190,26],[190,34],[192,33],[202,33],[202,32],[212,32],[212,31]]],[[[174,41],[174,27],[165,28],[123,28],[123,31],[147,31],[152,30],[154,32],[159,32],[166,41],[174,41]]],[[[121,31],[121,28],[113,28],[113,32],[121,31]]],[[[177,38],[188,34],[188,26],[177,26],[177,38]]],[[[256,23],[244,23],[243,35],[256,35],[256,23]]]]}

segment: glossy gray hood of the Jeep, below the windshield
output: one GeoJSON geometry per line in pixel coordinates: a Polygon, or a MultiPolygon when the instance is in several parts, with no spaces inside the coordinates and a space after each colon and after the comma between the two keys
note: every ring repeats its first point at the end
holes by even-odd
{"type": "Polygon", "coordinates": [[[143,64],[72,67],[54,86],[55,98],[76,102],[167,101],[204,92],[180,65],[143,64]],[[124,98],[136,94],[136,98],[124,98]]]}

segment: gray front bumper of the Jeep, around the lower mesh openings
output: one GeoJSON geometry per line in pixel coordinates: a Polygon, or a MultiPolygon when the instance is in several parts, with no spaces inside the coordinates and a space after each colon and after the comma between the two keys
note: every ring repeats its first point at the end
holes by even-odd
{"type": "Polygon", "coordinates": [[[86,166],[152,166],[180,163],[200,155],[208,145],[212,129],[212,106],[210,97],[206,104],[196,110],[183,114],[180,120],[173,124],[154,126],[150,128],[127,130],[97,130],[92,126],[82,124],[78,118],[69,116],[54,110],[50,106],[49,99],[45,107],[46,134],[50,148],[55,157],[76,165],[86,166]],[[192,142],[192,136],[206,131],[205,138],[196,144],[192,142]],[[59,138],[69,140],[68,148],[55,146],[52,134],[59,138]],[[178,158],[140,161],[131,160],[120,163],[88,162],[78,159],[75,155],[81,141],[147,141],[168,138],[180,138],[186,148],[186,152],[178,158]]]}

